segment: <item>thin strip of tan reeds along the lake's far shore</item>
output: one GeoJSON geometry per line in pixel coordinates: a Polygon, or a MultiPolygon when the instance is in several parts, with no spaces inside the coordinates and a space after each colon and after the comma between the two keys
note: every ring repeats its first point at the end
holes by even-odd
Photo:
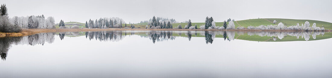
{"type": "MultiPolygon", "coordinates": [[[[18,33],[1,33],[0,38],[2,37],[19,37],[19,36],[28,36],[39,33],[53,33],[53,32],[82,32],[82,31],[303,31],[303,30],[216,30],[216,29],[22,29],[18,33]]],[[[332,32],[332,30],[325,30],[325,32],[332,32]]]]}

